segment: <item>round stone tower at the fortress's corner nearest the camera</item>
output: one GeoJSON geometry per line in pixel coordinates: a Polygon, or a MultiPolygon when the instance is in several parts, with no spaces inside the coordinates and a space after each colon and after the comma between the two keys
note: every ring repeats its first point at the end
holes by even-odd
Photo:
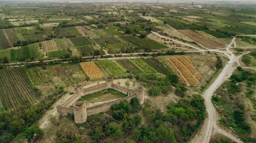
{"type": "Polygon", "coordinates": [[[75,123],[84,123],[87,120],[85,102],[75,102],[74,105],[75,123]]]}

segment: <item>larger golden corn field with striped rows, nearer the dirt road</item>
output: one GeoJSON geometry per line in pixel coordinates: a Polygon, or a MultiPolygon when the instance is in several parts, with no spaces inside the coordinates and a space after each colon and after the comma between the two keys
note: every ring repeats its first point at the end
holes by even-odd
{"type": "Polygon", "coordinates": [[[187,56],[180,56],[168,60],[179,75],[182,82],[187,85],[198,84],[201,74],[195,69],[194,64],[187,56]]]}

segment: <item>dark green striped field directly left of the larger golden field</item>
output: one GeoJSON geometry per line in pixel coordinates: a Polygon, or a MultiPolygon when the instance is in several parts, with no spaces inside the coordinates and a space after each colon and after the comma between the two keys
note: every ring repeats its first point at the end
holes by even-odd
{"type": "Polygon", "coordinates": [[[147,64],[149,64],[152,68],[154,68],[157,72],[163,73],[165,75],[170,74],[170,70],[160,61],[155,58],[141,58],[147,64]]]}

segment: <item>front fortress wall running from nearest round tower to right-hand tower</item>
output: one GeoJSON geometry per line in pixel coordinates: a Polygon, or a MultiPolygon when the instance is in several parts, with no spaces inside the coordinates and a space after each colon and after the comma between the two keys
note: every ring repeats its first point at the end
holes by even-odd
{"type": "Polygon", "coordinates": [[[90,116],[90,115],[93,115],[93,114],[96,114],[96,113],[106,112],[106,111],[110,110],[112,105],[119,104],[121,101],[125,101],[125,100],[130,102],[131,99],[134,98],[134,97],[136,97],[136,94],[126,96],[124,98],[118,98],[118,99],[116,99],[114,101],[111,101],[111,102],[105,102],[105,103],[102,103],[102,104],[98,104],[98,105],[86,108],[87,115],[90,116]]]}

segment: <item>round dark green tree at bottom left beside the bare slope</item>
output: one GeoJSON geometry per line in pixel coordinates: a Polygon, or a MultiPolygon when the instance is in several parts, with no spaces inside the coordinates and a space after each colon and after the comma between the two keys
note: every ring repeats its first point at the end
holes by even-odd
{"type": "Polygon", "coordinates": [[[34,124],[31,127],[25,129],[23,138],[27,139],[27,142],[30,143],[31,140],[34,140],[41,135],[43,135],[43,130],[39,128],[38,125],[34,124]]]}

